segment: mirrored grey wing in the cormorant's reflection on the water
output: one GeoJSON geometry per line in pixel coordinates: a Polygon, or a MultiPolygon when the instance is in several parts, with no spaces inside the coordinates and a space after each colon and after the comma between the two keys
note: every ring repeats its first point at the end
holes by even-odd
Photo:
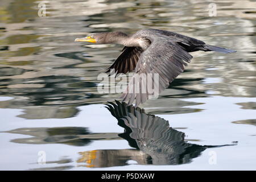
{"type": "Polygon", "coordinates": [[[144,144],[147,144],[144,150],[150,151],[150,147],[156,145],[158,148],[167,149],[184,143],[184,133],[172,129],[166,119],[146,114],[141,108],[128,106],[125,102],[115,102],[116,104],[108,102],[106,108],[131,129],[130,137],[137,141],[139,148],[142,149],[144,144]]]}

